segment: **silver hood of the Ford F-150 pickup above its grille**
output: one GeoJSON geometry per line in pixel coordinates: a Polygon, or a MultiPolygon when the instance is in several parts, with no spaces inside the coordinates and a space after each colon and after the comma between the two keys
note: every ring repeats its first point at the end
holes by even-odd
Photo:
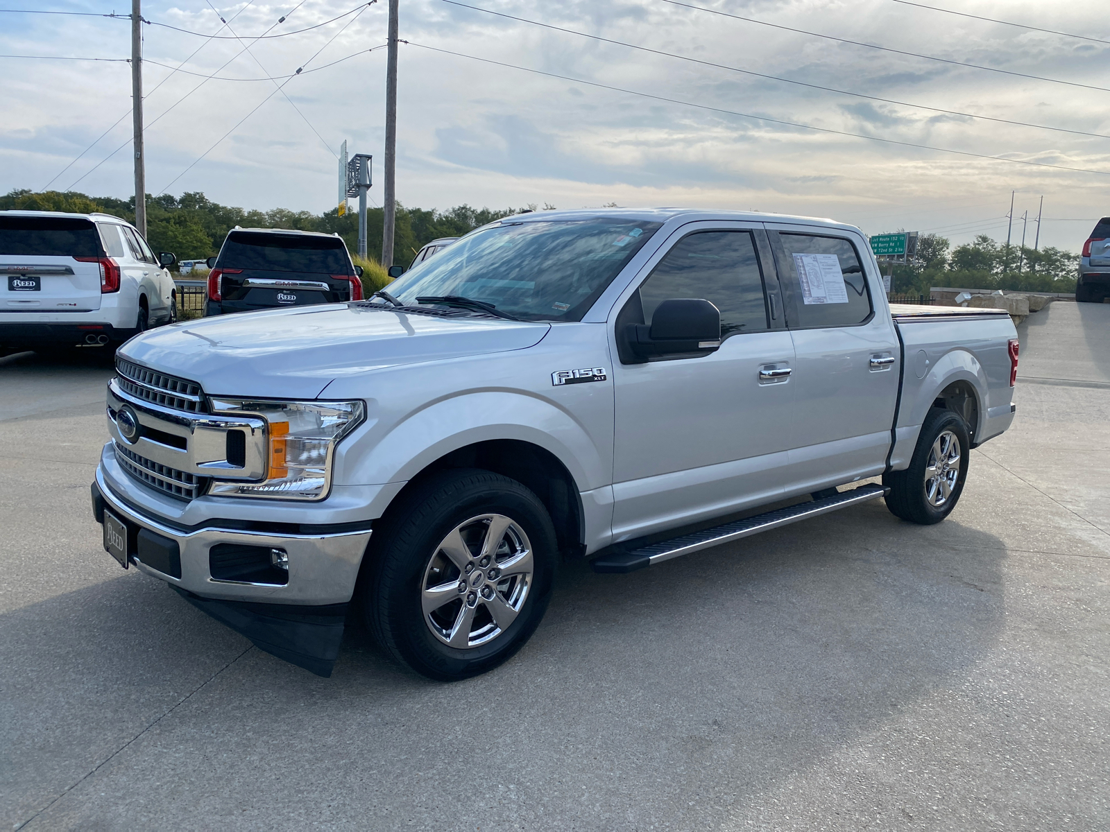
{"type": "Polygon", "coordinates": [[[210,395],[314,398],[341,376],[525,349],[548,329],[544,323],[330,304],[188,321],[143,333],[119,352],[196,382],[210,395]]]}

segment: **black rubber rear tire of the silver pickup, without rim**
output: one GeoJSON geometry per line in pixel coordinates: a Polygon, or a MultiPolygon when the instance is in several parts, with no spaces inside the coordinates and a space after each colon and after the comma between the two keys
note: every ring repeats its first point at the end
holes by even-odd
{"type": "Polygon", "coordinates": [[[963,493],[963,481],[968,476],[970,447],[971,440],[967,423],[958,414],[939,407],[929,410],[925,424],[921,425],[921,433],[918,436],[917,447],[914,448],[909,467],[906,470],[882,475],[882,485],[890,488],[890,494],[886,497],[890,514],[921,526],[931,526],[948,517],[963,493]],[[931,489],[926,481],[927,468],[932,461],[931,457],[935,456],[934,445],[945,434],[950,434],[959,444],[957,449],[959,469],[956,473],[955,481],[951,481],[947,471],[950,471],[953,466],[942,464],[941,470],[945,471],[945,475],[931,480],[940,489],[938,495],[941,503],[937,505],[938,497],[930,499],[931,489]],[[945,488],[950,489],[947,496],[944,495],[945,488]]]}

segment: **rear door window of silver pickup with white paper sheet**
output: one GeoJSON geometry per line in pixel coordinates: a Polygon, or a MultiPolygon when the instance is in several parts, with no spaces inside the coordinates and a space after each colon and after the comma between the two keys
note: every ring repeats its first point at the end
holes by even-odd
{"type": "Polygon", "coordinates": [[[844,237],[778,233],[778,264],[794,298],[795,328],[855,326],[870,317],[862,262],[844,237]]]}

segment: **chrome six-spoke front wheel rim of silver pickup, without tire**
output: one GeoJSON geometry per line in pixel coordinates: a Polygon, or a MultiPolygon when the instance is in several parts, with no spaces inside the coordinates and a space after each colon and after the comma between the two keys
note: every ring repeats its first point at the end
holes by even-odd
{"type": "Polygon", "coordinates": [[[424,568],[424,623],[448,647],[486,645],[524,607],[532,572],[524,529],[504,515],[472,517],[440,541],[424,568]]]}

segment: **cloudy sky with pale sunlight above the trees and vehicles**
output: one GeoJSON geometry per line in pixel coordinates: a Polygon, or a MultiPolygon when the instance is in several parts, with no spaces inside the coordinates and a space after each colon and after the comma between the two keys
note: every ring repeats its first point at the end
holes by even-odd
{"type": "MultiPolygon", "coordinates": [[[[401,0],[398,199],[755,209],[955,244],[1005,239],[1017,191],[1016,241],[1043,195],[1041,245],[1078,250],[1110,214],[1104,4],[924,2],[1089,39],[897,0],[401,0]]],[[[127,0],[11,6],[130,11],[127,0]]],[[[143,17],[149,192],[324,211],[344,139],[374,155],[377,179],[385,50],[365,50],[385,42],[386,0],[361,11],[354,0],[144,0],[143,17]],[[250,39],[264,32],[290,34],[250,39]]],[[[0,58],[0,192],[129,196],[130,65],[28,55],[127,58],[130,22],[2,13],[0,52],[23,55],[0,58]]],[[[379,186],[371,195],[380,204],[379,186]]],[[[1030,222],[1029,244],[1035,234],[1030,222]]]]}

